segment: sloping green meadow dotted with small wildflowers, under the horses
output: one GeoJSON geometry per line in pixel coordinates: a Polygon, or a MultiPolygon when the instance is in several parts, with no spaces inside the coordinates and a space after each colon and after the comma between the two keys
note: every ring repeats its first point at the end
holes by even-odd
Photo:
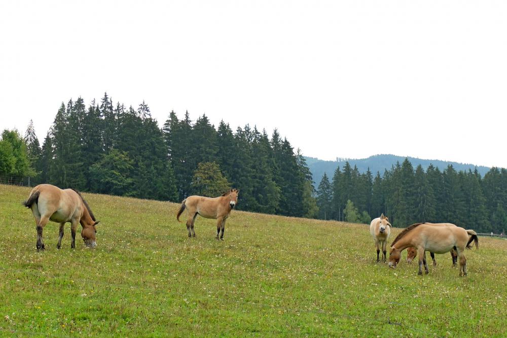
{"type": "Polygon", "coordinates": [[[225,241],[202,218],[189,239],[176,204],[85,193],[97,248],[67,224],[57,250],[50,222],[38,253],[28,192],[0,186],[2,336],[507,335],[507,241],[417,276],[375,263],[366,225],[233,211],[225,241]]]}

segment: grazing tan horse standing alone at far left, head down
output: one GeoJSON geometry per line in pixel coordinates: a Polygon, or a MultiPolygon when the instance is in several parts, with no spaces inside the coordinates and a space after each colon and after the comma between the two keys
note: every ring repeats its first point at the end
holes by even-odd
{"type": "Polygon", "coordinates": [[[42,240],[42,231],[48,221],[60,223],[60,238],[58,239],[57,249],[60,249],[63,226],[70,222],[70,231],[72,234],[71,248],[76,247],[76,229],[81,223],[83,229],[81,236],[85,245],[94,248],[97,245],[95,239],[95,225],[99,223],[93,216],[88,203],[81,194],[73,189],[62,190],[51,184],[40,184],[34,187],[28,199],[23,205],[30,208],[37,224],[37,251],[44,250],[42,240]]]}

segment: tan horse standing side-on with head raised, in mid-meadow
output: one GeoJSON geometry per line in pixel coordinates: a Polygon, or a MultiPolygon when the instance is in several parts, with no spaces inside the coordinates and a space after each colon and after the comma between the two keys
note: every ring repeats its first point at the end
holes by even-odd
{"type": "Polygon", "coordinates": [[[220,197],[189,196],[183,200],[182,206],[178,210],[176,219],[179,222],[179,216],[185,209],[188,212],[187,230],[189,237],[195,237],[194,222],[197,215],[204,218],[216,219],[216,239],[224,240],[225,221],[229,217],[231,210],[238,202],[237,189],[230,189],[220,197]],[[222,231],[222,233],[220,233],[222,231]]]}

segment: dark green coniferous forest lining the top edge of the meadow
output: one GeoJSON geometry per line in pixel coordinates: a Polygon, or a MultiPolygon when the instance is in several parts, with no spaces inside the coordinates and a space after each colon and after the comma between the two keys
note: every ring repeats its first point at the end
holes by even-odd
{"type": "MultiPolygon", "coordinates": [[[[331,173],[330,173],[331,174],[331,173]]],[[[406,159],[384,173],[345,165],[317,185],[301,152],[275,129],[218,127],[203,114],[171,111],[162,128],[142,102],[113,104],[107,94],[86,107],[83,98],[58,109],[42,142],[30,122],[24,137],[4,130],[0,175],[31,177],[82,191],[181,201],[240,189],[239,210],[369,223],[384,213],[397,227],[451,222],[478,232],[507,228],[507,170],[441,171],[406,159]]]]}

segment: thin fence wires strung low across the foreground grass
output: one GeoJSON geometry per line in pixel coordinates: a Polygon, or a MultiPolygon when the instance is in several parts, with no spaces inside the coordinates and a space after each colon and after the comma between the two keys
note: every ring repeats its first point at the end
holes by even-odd
{"type": "MultiPolygon", "coordinates": [[[[8,271],[11,273],[12,272],[24,273],[24,274],[28,274],[28,275],[35,276],[35,277],[45,277],[45,278],[52,277],[52,278],[63,279],[65,281],[70,281],[70,279],[62,277],[62,276],[50,275],[50,274],[46,274],[46,273],[38,274],[37,272],[29,271],[29,270],[21,270],[21,269],[8,270],[6,268],[0,267],[0,271],[3,271],[5,273],[8,271]]],[[[140,287],[140,286],[136,286],[136,285],[115,284],[115,283],[100,282],[100,281],[94,281],[94,280],[83,279],[83,278],[73,278],[72,280],[83,282],[83,283],[94,284],[94,285],[102,285],[105,287],[115,287],[115,288],[122,288],[122,289],[128,289],[128,290],[134,289],[134,290],[149,291],[149,292],[159,293],[159,294],[172,294],[172,295],[182,297],[183,299],[193,298],[193,299],[206,300],[206,301],[234,303],[236,305],[242,305],[244,307],[248,306],[248,307],[266,308],[266,309],[274,309],[274,310],[283,310],[286,312],[294,312],[294,313],[308,313],[308,314],[324,315],[324,316],[331,316],[331,317],[337,317],[337,318],[353,319],[353,320],[362,322],[363,324],[369,323],[369,324],[374,324],[374,325],[381,325],[382,327],[384,327],[385,325],[388,325],[390,327],[399,326],[399,327],[404,327],[406,329],[410,329],[412,331],[419,332],[421,334],[424,334],[425,336],[430,336],[430,335],[437,336],[437,337],[439,336],[438,334],[431,332],[430,330],[413,327],[413,326],[407,325],[401,321],[391,320],[390,318],[385,319],[385,318],[361,317],[361,316],[354,316],[354,315],[348,315],[348,314],[339,314],[339,313],[334,313],[334,312],[329,312],[329,311],[324,311],[324,310],[289,308],[289,307],[270,305],[270,304],[265,304],[265,303],[261,303],[261,302],[255,302],[255,301],[235,300],[235,299],[230,299],[230,298],[226,298],[226,297],[218,297],[218,296],[207,297],[207,296],[201,296],[201,295],[196,295],[196,294],[192,294],[192,293],[170,291],[167,289],[154,289],[154,288],[149,288],[149,287],[140,287]]],[[[2,327],[0,327],[0,331],[19,333],[19,334],[30,334],[30,335],[66,336],[66,335],[62,335],[62,334],[17,331],[17,330],[8,329],[8,328],[2,328],[2,327]]],[[[402,334],[400,332],[395,333],[391,330],[387,330],[387,331],[389,331],[393,335],[402,334]]]]}

